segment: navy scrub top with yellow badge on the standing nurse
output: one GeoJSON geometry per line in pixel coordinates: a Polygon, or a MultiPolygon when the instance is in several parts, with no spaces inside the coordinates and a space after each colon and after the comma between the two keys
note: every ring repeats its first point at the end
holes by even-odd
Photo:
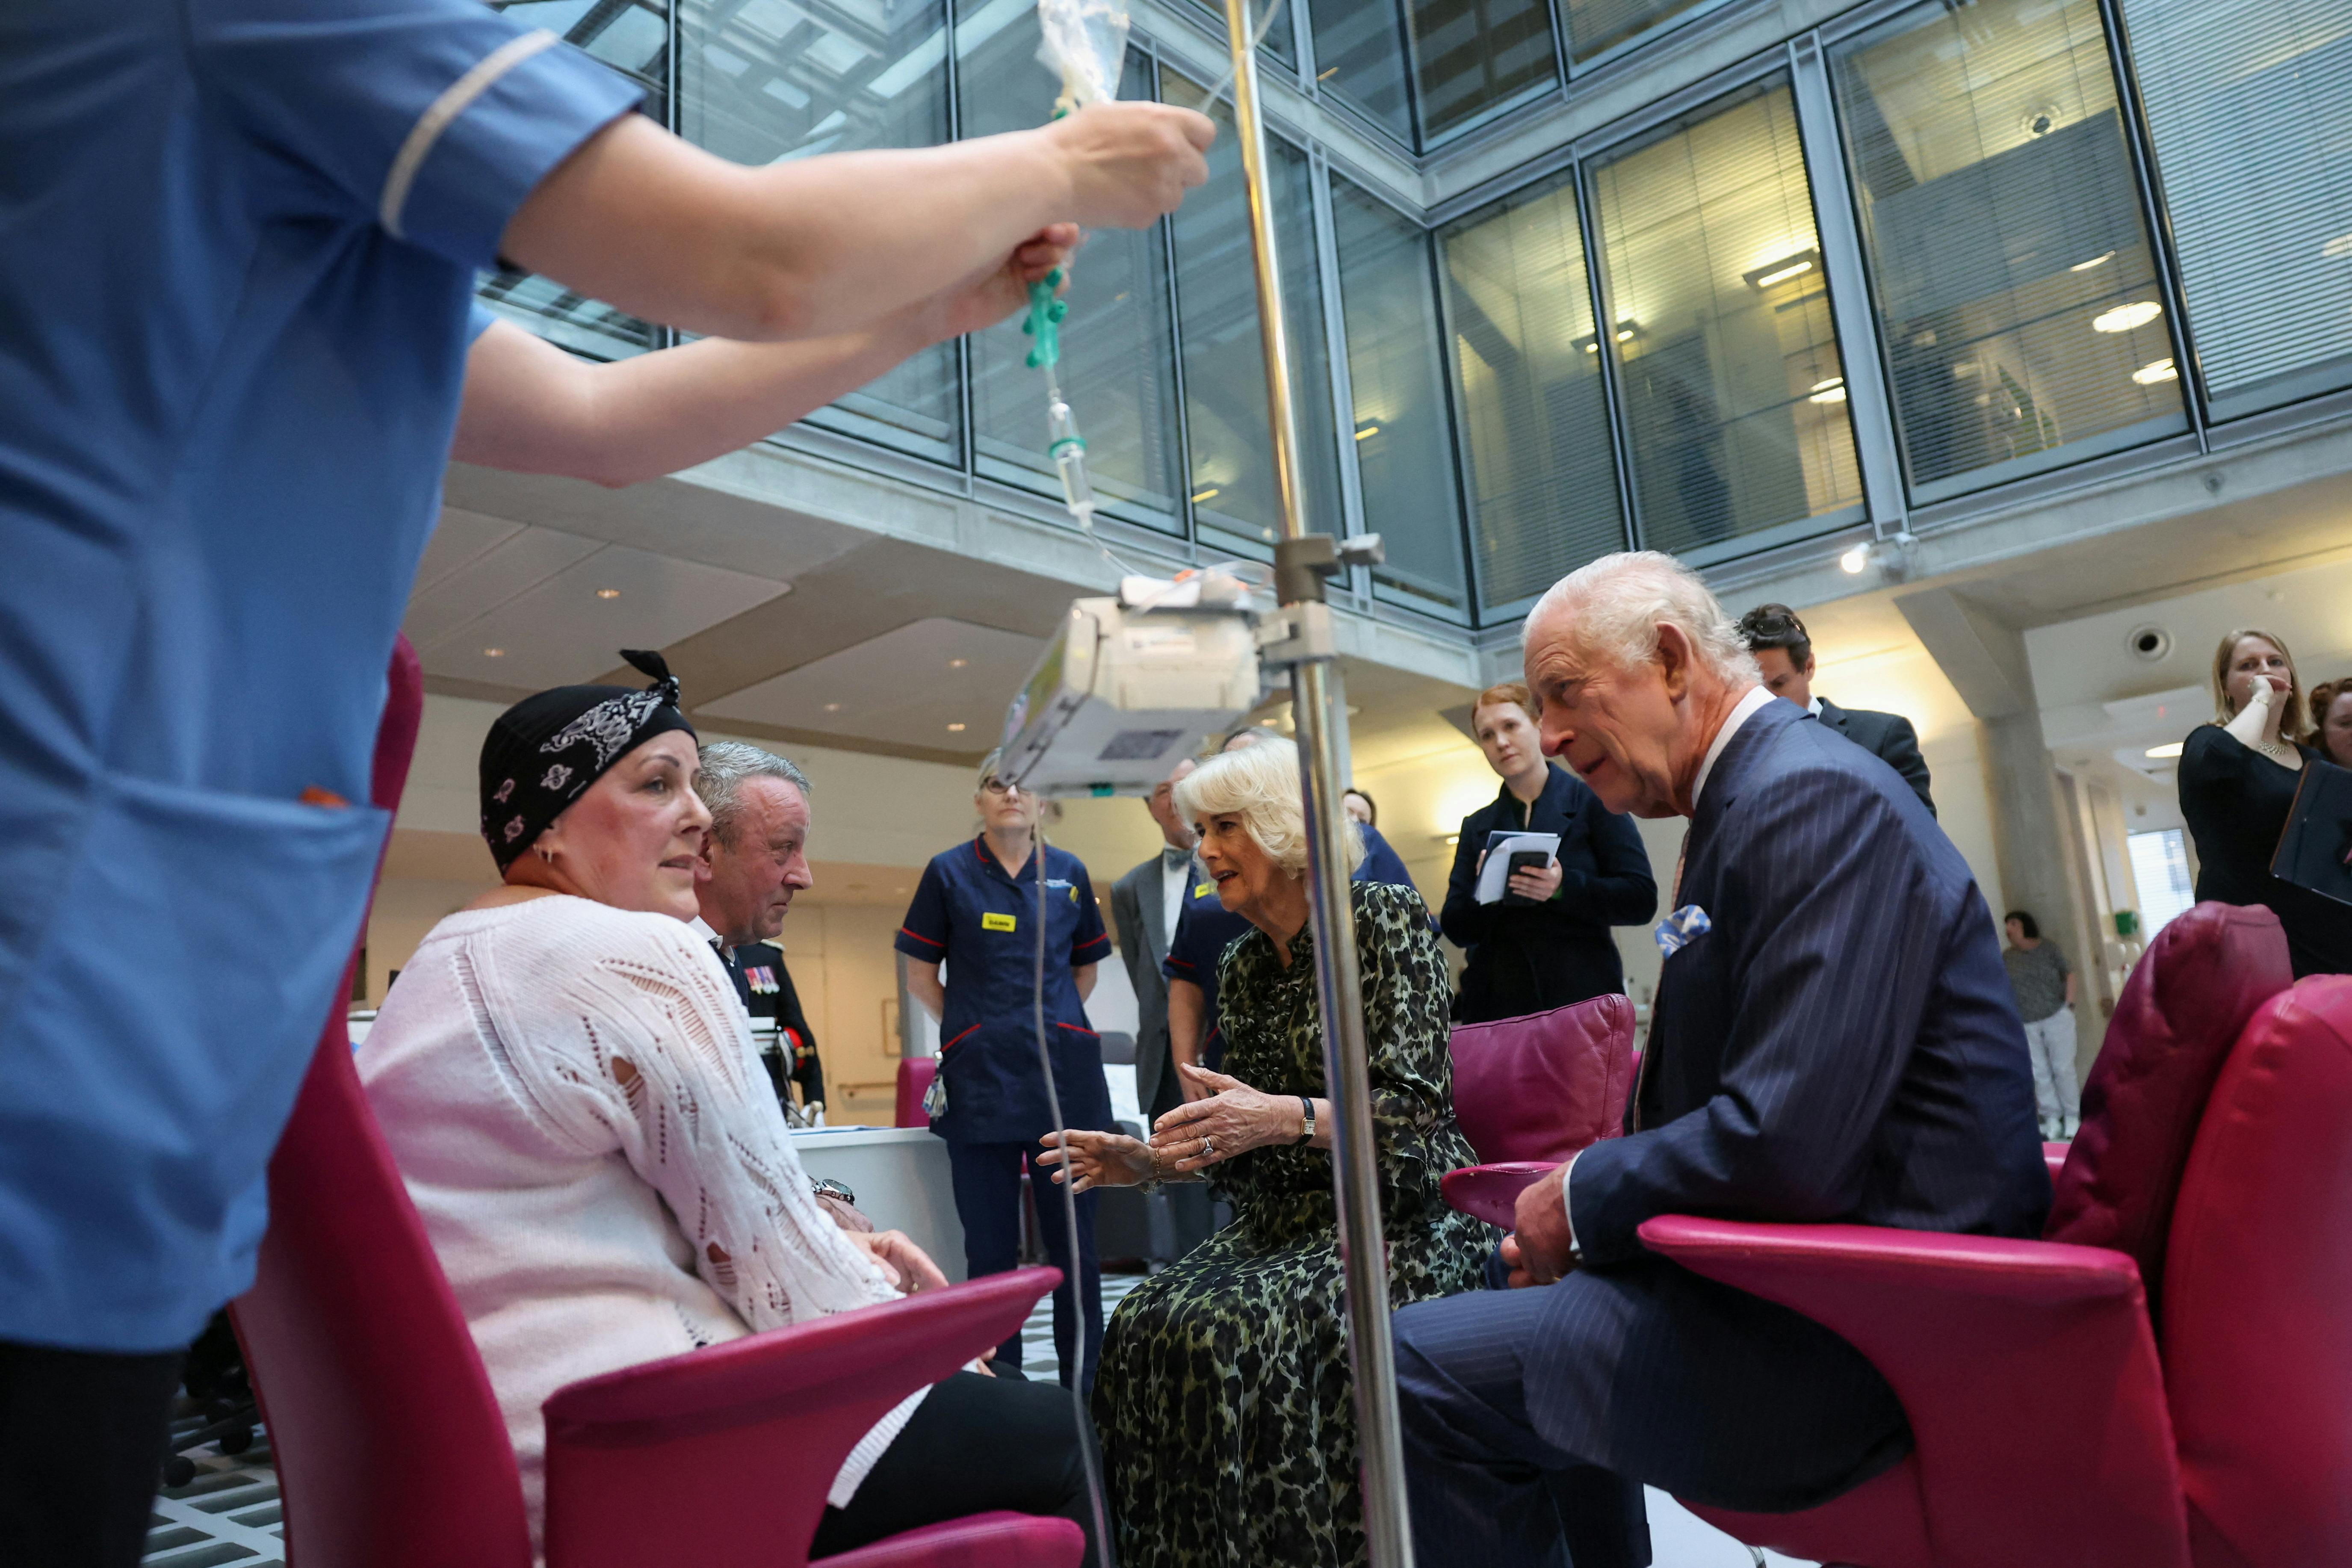
{"type": "MultiPolygon", "coordinates": [[[[1044,849],[1044,1023],[1054,1093],[1070,1126],[1110,1128],[1103,1041],[1077,999],[1075,969],[1110,954],[1087,865],[1044,849]]],[[[988,839],[957,844],[922,867],[898,926],[898,952],[948,964],[938,1020],[938,1077],[948,1114],[931,1131],[950,1143],[1035,1143],[1054,1131],[1037,1070],[1037,853],[1007,877],[988,839]]]]}

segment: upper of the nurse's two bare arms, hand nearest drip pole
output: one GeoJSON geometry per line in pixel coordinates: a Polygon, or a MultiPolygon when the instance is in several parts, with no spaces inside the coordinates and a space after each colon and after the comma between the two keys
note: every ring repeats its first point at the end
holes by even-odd
{"type": "Polygon", "coordinates": [[[532,190],[499,249],[654,322],[809,339],[934,299],[1051,223],[1145,228],[1209,179],[1214,136],[1171,103],[1094,103],[1033,132],[753,169],[621,115],[532,190]]]}

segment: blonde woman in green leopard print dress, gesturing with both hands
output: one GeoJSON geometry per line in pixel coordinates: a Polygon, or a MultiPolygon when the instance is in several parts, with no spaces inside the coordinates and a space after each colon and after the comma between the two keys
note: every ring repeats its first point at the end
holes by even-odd
{"type": "MultiPolygon", "coordinates": [[[[1124,1568],[1362,1563],[1315,950],[1303,877],[1287,865],[1305,858],[1296,752],[1218,757],[1176,799],[1202,827],[1225,907],[1258,929],[1218,966],[1228,1072],[1185,1067],[1214,1093],[1169,1112],[1150,1145],[1070,1135],[1082,1190],[1204,1175],[1235,1208],[1228,1229],[1136,1286],[1105,1331],[1094,1415],[1117,1556],[1124,1568]]],[[[1388,884],[1350,896],[1388,1291],[1402,1307],[1477,1288],[1491,1232],[1437,1192],[1477,1157],[1454,1124],[1446,966],[1428,912],[1388,884]]]]}

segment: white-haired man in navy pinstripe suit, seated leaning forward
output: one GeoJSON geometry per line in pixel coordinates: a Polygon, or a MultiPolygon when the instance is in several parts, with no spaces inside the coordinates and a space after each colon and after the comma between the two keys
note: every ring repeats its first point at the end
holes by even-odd
{"type": "Polygon", "coordinates": [[[1639,1568],[1639,1486],[1785,1512],[1910,1450],[1811,1319],[1649,1255],[1661,1213],[2034,1237],[2051,1185],[1999,931],[1926,806],[1759,684],[1679,562],[1613,555],[1526,618],[1543,748],[1691,818],[1628,1133],[1519,1197],[1515,1291],[1397,1314],[1423,1568],[1639,1568]]]}

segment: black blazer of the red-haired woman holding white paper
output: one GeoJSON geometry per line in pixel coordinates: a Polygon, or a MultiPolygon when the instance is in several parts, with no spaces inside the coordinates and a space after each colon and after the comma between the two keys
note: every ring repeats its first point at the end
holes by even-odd
{"type": "Polygon", "coordinates": [[[1658,882],[1630,818],[1602,804],[1562,766],[1522,806],[1510,785],[1463,818],[1439,917],[1446,938],[1470,950],[1454,1023],[1522,1018],[1585,997],[1625,990],[1609,926],[1639,926],[1658,912],[1658,882]],[[1477,856],[1494,830],[1557,832],[1559,891],[1541,905],[1477,903],[1477,856]]]}

